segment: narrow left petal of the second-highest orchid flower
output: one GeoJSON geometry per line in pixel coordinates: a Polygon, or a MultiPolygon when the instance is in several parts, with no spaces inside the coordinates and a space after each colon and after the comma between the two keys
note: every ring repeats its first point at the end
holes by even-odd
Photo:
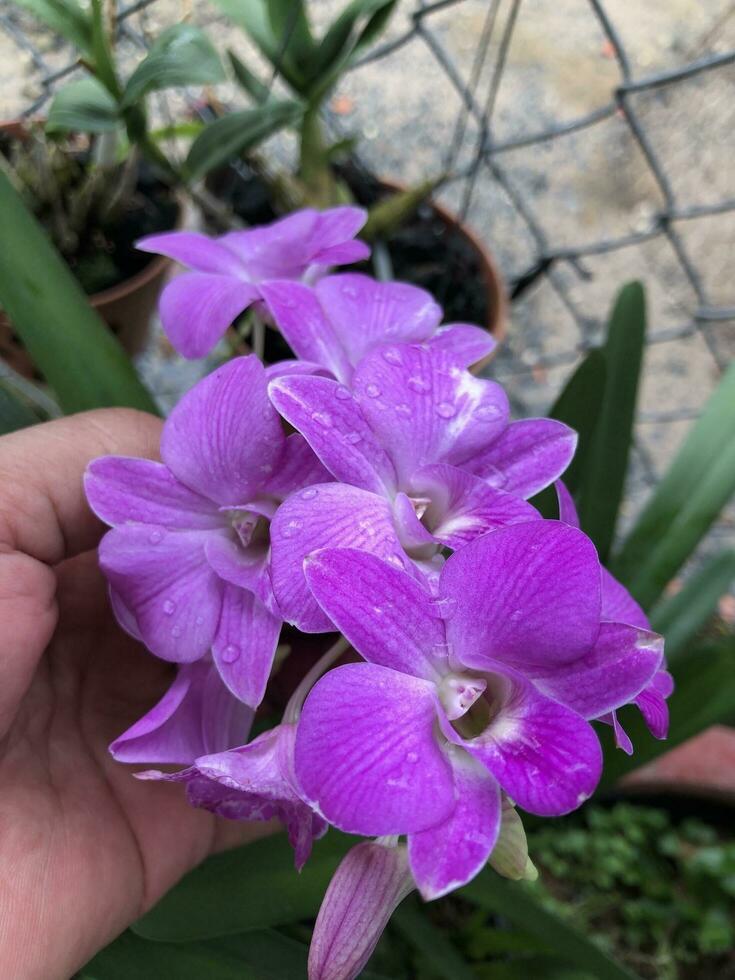
{"type": "Polygon", "coordinates": [[[261,293],[276,326],[291,349],[341,380],[350,366],[316,293],[310,286],[290,280],[263,283],[261,293]]]}

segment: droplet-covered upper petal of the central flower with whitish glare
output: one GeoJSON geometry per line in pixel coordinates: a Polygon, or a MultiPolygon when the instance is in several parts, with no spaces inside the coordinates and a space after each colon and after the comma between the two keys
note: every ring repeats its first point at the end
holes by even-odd
{"type": "Polygon", "coordinates": [[[475,378],[445,350],[401,344],[373,351],[357,366],[353,390],[401,487],[422,466],[461,465],[508,421],[500,385],[475,378]]]}

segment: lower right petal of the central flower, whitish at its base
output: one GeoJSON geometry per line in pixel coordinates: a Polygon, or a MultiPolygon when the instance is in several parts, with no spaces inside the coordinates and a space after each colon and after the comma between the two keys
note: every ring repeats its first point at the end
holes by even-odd
{"type": "Polygon", "coordinates": [[[416,496],[431,500],[424,524],[450,548],[462,548],[496,528],[541,517],[525,500],[494,490],[480,477],[456,466],[423,467],[414,473],[411,489],[416,496]]]}

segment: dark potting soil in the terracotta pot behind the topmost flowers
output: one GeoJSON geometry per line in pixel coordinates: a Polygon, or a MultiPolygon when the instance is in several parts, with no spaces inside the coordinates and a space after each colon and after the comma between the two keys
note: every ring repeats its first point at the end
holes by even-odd
{"type": "MultiPolygon", "coordinates": [[[[348,184],[358,204],[369,207],[393,191],[371,174],[354,164],[339,167],[340,177],[348,184]]],[[[211,189],[226,201],[235,214],[249,225],[274,221],[275,211],[265,182],[256,174],[220,173],[211,189]]],[[[483,267],[477,249],[459,228],[448,225],[429,204],[386,242],[393,278],[428,290],[444,308],[447,323],[487,323],[488,295],[483,267]]],[[[350,267],[354,271],[373,273],[368,260],[350,267]]],[[[266,349],[269,360],[293,356],[286,353],[285,341],[268,331],[266,349]],[[271,357],[270,355],[276,355],[271,357]]]]}

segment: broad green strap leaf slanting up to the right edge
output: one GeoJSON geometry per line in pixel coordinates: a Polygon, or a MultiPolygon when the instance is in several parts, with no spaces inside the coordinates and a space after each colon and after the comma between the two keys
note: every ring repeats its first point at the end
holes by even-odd
{"type": "Polygon", "coordinates": [[[663,479],[654,490],[619,553],[612,572],[626,584],[652,546],[670,533],[672,521],[710,473],[735,432],[735,363],[730,366],[692,427],[663,479]]]}

